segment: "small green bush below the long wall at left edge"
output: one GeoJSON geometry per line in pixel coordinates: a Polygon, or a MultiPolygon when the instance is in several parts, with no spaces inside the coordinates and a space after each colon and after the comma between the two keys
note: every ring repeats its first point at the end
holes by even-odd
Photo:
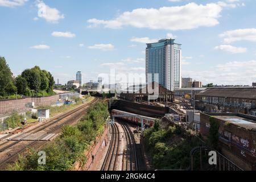
{"type": "Polygon", "coordinates": [[[3,128],[3,126],[0,127],[0,130],[6,130],[9,128],[16,128],[19,126],[22,126],[21,122],[24,120],[24,117],[22,115],[19,115],[18,113],[13,113],[10,115],[9,118],[5,119],[5,121],[3,121],[3,125],[5,125],[5,128],[3,128]]]}

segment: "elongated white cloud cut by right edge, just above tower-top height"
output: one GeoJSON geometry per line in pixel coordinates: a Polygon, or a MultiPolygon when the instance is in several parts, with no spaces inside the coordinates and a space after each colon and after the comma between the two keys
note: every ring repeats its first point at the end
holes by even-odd
{"type": "Polygon", "coordinates": [[[256,42],[256,28],[225,31],[219,36],[224,39],[225,43],[232,43],[242,40],[256,42]]]}

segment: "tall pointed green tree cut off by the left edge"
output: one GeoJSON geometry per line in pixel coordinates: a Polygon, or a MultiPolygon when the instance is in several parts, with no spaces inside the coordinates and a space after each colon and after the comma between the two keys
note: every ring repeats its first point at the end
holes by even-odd
{"type": "Polygon", "coordinates": [[[0,57],[0,96],[8,96],[15,92],[13,73],[11,73],[5,57],[0,57]]]}

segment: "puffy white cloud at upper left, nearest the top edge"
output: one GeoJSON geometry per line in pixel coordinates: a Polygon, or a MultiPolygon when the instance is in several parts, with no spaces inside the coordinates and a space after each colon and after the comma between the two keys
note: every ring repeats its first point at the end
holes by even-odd
{"type": "Polygon", "coordinates": [[[47,22],[58,23],[64,15],[59,10],[47,6],[43,1],[37,1],[38,17],[46,19],[47,22]]]}

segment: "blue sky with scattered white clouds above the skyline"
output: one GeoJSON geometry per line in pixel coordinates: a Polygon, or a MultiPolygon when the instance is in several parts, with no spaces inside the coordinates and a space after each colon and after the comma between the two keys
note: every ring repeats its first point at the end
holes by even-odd
{"type": "Polygon", "coordinates": [[[38,65],[61,84],[77,71],[83,82],[110,72],[144,82],[146,43],[172,38],[183,77],[251,85],[255,9],[255,0],[0,0],[0,56],[15,76],[38,65]]]}

